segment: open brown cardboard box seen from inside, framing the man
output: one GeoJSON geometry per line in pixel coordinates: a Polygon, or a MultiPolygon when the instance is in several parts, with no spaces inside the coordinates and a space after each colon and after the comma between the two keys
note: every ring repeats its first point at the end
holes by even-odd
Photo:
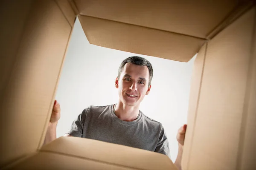
{"type": "Polygon", "coordinates": [[[182,168],[256,169],[252,0],[3,0],[0,12],[1,169],[176,169],[90,139],[42,147],[76,16],[91,44],[181,62],[198,52],[182,168]]]}

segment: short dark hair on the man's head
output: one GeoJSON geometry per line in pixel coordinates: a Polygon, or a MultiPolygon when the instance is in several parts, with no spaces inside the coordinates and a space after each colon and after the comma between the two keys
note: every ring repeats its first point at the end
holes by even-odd
{"type": "Polygon", "coordinates": [[[118,79],[120,78],[120,74],[123,71],[123,68],[125,67],[125,64],[127,64],[129,62],[131,62],[132,64],[135,64],[135,65],[141,65],[141,66],[147,66],[148,67],[148,71],[149,71],[148,86],[151,85],[151,81],[152,81],[152,78],[153,78],[153,67],[152,67],[151,63],[143,57],[132,56],[132,57],[128,57],[128,58],[124,59],[122,61],[121,65],[119,66],[117,78],[118,79]]]}

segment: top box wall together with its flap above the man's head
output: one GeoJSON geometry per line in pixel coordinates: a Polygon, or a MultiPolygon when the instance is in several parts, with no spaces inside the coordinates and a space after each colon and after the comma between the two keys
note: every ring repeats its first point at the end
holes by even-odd
{"type": "Polygon", "coordinates": [[[188,62],[238,1],[74,0],[74,3],[91,44],[188,62]]]}

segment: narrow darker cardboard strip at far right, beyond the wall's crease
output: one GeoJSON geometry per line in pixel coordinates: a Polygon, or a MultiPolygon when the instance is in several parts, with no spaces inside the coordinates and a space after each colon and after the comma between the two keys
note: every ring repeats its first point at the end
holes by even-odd
{"type": "Polygon", "coordinates": [[[256,9],[254,9],[254,28],[249,61],[247,89],[244,99],[244,115],[240,131],[239,170],[256,169],[256,9]]]}

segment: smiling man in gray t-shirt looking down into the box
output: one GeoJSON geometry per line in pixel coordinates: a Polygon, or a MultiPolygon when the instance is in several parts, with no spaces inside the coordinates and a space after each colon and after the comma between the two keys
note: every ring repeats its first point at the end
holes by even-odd
{"type": "MultiPolygon", "coordinates": [[[[108,106],[90,106],[73,122],[64,136],[77,136],[122,144],[163,153],[170,156],[169,143],[163,126],[140,110],[140,102],[151,89],[153,68],[142,57],[128,57],[118,70],[115,86],[119,101],[108,106]]],[[[56,126],[60,119],[60,105],[55,101],[44,144],[56,139],[56,126]]],[[[186,125],[177,133],[179,152],[175,165],[181,169],[186,125]]]]}

